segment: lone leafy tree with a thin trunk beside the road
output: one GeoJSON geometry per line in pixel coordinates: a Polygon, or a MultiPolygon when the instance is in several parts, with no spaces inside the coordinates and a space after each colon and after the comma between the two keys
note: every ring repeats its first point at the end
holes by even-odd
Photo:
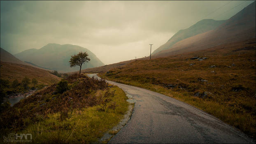
{"type": "Polygon", "coordinates": [[[80,66],[80,71],[79,74],[81,73],[81,67],[82,65],[86,62],[88,63],[88,61],[90,61],[91,59],[87,57],[88,54],[86,52],[79,52],[77,54],[75,54],[74,56],[71,56],[70,58],[70,67],[75,67],[75,66],[80,66]]]}

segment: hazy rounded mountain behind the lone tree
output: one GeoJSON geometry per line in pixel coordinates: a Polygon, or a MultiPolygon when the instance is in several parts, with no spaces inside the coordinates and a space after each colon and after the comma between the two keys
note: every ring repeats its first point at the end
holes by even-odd
{"type": "Polygon", "coordinates": [[[72,44],[47,44],[41,49],[28,49],[15,54],[15,56],[23,61],[59,72],[74,72],[79,70],[79,67],[70,67],[69,60],[71,56],[80,51],[87,51],[88,57],[91,59],[89,63],[82,65],[82,69],[104,65],[95,54],[88,49],[72,44]]]}

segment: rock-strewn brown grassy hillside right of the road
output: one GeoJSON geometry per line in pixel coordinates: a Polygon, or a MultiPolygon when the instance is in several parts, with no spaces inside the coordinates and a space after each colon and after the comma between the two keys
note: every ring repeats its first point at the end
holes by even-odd
{"type": "Polygon", "coordinates": [[[255,139],[255,47],[252,39],[182,55],[137,60],[99,76],[186,102],[255,139]],[[192,60],[194,56],[207,59],[192,60]]]}

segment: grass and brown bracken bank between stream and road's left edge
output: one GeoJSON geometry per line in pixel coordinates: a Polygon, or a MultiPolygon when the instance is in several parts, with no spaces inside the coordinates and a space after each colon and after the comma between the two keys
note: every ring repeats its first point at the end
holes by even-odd
{"type": "Polygon", "coordinates": [[[1,142],[12,132],[31,133],[32,143],[97,143],[128,110],[127,97],[117,86],[77,74],[66,81],[69,89],[63,94],[54,94],[55,84],[1,114],[1,142]],[[7,123],[10,118],[14,121],[7,123]]]}

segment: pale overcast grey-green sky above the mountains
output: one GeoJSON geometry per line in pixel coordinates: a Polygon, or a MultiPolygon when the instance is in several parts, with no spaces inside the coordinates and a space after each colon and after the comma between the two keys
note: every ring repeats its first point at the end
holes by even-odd
{"type": "Polygon", "coordinates": [[[178,30],[223,20],[254,1],[0,1],[0,46],[12,54],[74,44],[105,64],[149,56],[178,30]]]}

